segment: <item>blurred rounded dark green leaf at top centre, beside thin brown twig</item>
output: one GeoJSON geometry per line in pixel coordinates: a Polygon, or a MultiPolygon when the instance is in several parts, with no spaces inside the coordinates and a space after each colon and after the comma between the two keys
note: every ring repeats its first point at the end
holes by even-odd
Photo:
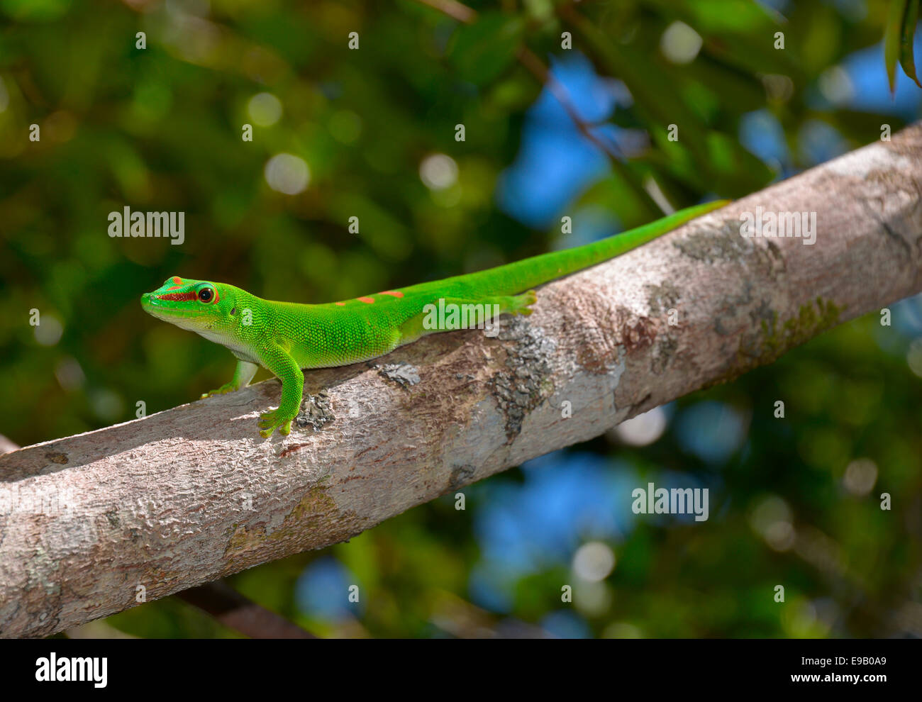
{"type": "Polygon", "coordinates": [[[457,30],[448,58],[461,78],[484,85],[514,61],[524,29],[521,18],[485,13],[457,30]]]}

